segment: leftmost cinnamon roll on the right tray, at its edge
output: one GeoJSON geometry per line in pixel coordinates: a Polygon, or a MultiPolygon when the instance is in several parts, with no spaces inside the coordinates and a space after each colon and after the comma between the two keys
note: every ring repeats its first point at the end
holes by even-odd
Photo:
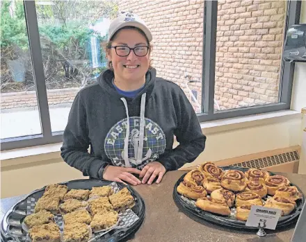
{"type": "Polygon", "coordinates": [[[207,196],[207,191],[205,191],[204,187],[197,186],[194,183],[184,181],[181,182],[179,186],[177,186],[177,192],[193,200],[197,200],[198,198],[203,198],[207,196]]]}

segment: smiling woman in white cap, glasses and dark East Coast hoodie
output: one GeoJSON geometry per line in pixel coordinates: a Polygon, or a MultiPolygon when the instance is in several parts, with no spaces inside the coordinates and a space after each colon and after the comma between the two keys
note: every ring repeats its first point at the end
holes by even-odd
{"type": "Polygon", "coordinates": [[[150,67],[151,41],[134,13],[111,23],[109,68],[77,94],[63,135],[61,155],[83,175],[133,185],[159,183],[166,171],[193,162],[204,150],[206,137],[184,92],[156,78],[150,67]]]}

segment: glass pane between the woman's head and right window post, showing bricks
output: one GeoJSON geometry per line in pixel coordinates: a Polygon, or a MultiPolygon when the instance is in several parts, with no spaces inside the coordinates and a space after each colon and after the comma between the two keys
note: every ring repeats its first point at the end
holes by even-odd
{"type": "Polygon", "coordinates": [[[132,0],[118,6],[138,14],[150,28],[156,75],[182,87],[195,112],[201,112],[204,0],[132,0]]]}

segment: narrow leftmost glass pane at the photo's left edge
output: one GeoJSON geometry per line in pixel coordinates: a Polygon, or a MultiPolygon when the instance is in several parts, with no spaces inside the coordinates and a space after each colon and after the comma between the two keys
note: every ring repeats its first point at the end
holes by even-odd
{"type": "Polygon", "coordinates": [[[1,139],[41,134],[22,1],[1,1],[1,139]]]}

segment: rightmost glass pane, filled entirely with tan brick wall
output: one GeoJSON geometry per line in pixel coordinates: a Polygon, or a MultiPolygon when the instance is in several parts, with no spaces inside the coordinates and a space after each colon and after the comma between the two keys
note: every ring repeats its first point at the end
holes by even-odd
{"type": "Polygon", "coordinates": [[[215,111],[277,103],[286,1],[218,1],[215,111]]]}

